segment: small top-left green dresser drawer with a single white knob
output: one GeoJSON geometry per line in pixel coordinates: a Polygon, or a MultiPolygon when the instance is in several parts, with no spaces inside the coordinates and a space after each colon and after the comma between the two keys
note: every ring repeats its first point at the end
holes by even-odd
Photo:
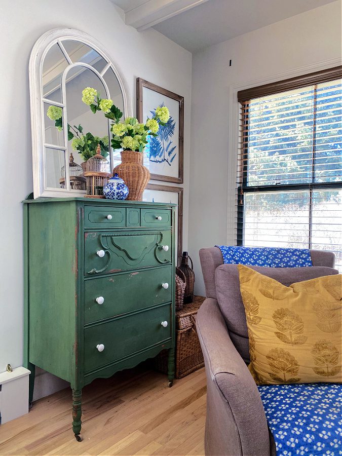
{"type": "Polygon", "coordinates": [[[126,226],[126,208],[112,206],[86,206],[84,208],[85,228],[110,230],[126,226]]]}

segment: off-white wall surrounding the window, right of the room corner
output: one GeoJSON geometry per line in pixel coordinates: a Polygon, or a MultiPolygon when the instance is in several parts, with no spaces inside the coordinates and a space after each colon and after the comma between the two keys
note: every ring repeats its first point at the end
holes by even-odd
{"type": "Polygon", "coordinates": [[[236,135],[236,87],[340,64],[340,18],[341,3],[333,2],[193,56],[188,248],[195,260],[197,294],[205,294],[199,249],[232,242],[236,150],[229,150],[234,144],[229,130],[236,135]]]}

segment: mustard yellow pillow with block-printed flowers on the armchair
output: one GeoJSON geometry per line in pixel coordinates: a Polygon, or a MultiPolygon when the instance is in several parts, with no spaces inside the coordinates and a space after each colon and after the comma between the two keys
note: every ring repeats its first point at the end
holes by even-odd
{"type": "Polygon", "coordinates": [[[342,276],[286,287],[242,264],[238,269],[255,382],[340,383],[342,276]]]}

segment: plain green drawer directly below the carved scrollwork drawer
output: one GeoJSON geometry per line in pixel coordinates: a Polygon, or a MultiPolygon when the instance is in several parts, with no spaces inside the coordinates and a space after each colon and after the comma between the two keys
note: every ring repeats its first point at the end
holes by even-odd
{"type": "Polygon", "coordinates": [[[171,265],[86,280],[84,322],[87,324],[170,302],[171,285],[171,265]]]}

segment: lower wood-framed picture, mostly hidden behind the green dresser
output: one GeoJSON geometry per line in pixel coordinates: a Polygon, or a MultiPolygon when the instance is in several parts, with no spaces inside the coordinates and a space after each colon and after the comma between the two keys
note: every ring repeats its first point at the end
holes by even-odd
{"type": "Polygon", "coordinates": [[[178,219],[178,229],[175,233],[175,258],[180,264],[182,257],[182,235],[183,235],[183,188],[171,187],[169,185],[147,184],[142,195],[142,201],[153,203],[176,203],[176,219],[178,219]]]}

